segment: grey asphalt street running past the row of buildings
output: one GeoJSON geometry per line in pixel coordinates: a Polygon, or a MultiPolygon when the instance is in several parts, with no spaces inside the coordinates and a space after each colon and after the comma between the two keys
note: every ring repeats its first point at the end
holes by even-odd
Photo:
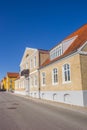
{"type": "Polygon", "coordinates": [[[87,113],[0,92],[0,130],[87,130],[87,113]]]}

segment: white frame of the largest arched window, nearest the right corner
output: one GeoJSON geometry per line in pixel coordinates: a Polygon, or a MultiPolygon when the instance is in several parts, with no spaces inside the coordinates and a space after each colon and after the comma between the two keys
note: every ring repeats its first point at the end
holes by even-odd
{"type": "MultiPolygon", "coordinates": [[[[70,66],[70,64],[69,63],[65,63],[64,65],[63,65],[63,67],[62,67],[62,75],[63,75],[63,83],[65,84],[65,83],[70,83],[71,82],[71,66],[70,66]],[[64,66],[65,65],[69,65],[69,69],[67,68],[66,70],[64,70],[64,66]],[[65,72],[66,72],[66,74],[68,74],[68,72],[69,72],[69,77],[70,77],[70,80],[65,80],[65,72]]],[[[67,76],[68,77],[68,76],[67,76]]]]}

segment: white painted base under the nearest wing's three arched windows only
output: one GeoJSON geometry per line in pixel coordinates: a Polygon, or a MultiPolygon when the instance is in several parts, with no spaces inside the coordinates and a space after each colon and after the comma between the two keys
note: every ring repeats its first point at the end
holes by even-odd
{"type": "Polygon", "coordinates": [[[41,99],[84,106],[83,91],[41,91],[40,97],[41,99]]]}

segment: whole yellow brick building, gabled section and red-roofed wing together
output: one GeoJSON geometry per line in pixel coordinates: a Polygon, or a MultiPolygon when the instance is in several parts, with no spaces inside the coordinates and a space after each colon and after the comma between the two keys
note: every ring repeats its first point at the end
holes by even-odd
{"type": "Polygon", "coordinates": [[[19,88],[30,96],[87,106],[87,24],[49,51],[27,48],[20,69],[19,88]]]}

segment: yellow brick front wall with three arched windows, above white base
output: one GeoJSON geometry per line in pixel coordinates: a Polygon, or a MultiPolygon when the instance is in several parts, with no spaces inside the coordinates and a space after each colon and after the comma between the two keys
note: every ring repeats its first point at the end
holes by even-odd
{"type": "Polygon", "coordinates": [[[64,58],[59,62],[50,64],[42,69],[40,69],[40,80],[42,72],[46,73],[46,85],[41,86],[42,91],[63,91],[63,90],[81,90],[82,89],[82,80],[81,80],[81,71],[80,71],[80,56],[79,54],[74,55],[69,58],[64,58]],[[64,64],[70,64],[71,68],[71,81],[69,83],[63,82],[63,72],[62,67],[64,64]],[[58,69],[58,84],[52,85],[52,70],[54,68],[58,69]]]}

